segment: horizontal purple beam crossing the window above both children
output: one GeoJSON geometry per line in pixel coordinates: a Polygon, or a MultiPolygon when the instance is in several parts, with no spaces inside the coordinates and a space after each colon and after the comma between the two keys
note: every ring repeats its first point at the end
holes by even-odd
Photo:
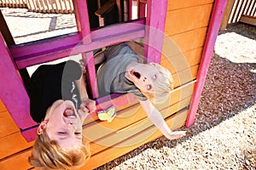
{"type": "Polygon", "coordinates": [[[92,31],[92,42],[83,44],[78,41],[80,34],[45,41],[38,41],[28,46],[17,46],[11,48],[11,53],[19,69],[27,66],[37,65],[54,59],[61,59],[74,54],[90,52],[96,48],[109,46],[113,43],[125,42],[137,37],[144,37],[144,20],[132,23],[108,26],[100,30],[92,31]],[[62,44],[63,46],[60,46],[62,44]],[[35,49],[36,48],[36,49],[35,49]],[[40,50],[39,50],[39,49],[40,50]]]}

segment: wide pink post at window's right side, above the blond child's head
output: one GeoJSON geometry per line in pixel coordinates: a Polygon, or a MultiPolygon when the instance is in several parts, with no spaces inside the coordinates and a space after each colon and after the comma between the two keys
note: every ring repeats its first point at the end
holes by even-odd
{"type": "Polygon", "coordinates": [[[144,56],[160,63],[166,26],[167,0],[148,0],[144,56]]]}

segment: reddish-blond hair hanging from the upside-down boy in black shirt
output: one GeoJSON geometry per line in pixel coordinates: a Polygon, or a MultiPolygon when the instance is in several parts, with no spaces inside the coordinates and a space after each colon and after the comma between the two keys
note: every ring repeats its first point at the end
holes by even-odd
{"type": "Polygon", "coordinates": [[[89,143],[83,136],[81,147],[73,150],[63,150],[54,140],[50,140],[45,129],[37,135],[28,162],[33,167],[41,169],[76,169],[84,166],[90,157],[89,143]]]}

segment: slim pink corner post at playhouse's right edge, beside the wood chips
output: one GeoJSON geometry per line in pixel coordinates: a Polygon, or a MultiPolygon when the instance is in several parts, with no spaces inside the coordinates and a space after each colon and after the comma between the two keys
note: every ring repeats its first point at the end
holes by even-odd
{"type": "Polygon", "coordinates": [[[203,90],[205,80],[207,77],[207,71],[212,59],[212,52],[216,38],[218,36],[218,30],[224,14],[226,0],[216,0],[212,10],[212,18],[208,28],[207,39],[201,56],[201,64],[196,78],[196,84],[194,94],[191,99],[189,108],[189,115],[187,118],[186,126],[190,127],[195,122],[195,114],[198,109],[199,101],[201,98],[201,92],[203,90]]]}

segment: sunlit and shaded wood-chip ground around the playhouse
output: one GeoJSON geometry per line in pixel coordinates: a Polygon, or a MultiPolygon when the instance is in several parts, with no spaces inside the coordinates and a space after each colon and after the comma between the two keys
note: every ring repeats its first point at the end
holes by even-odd
{"type": "MultiPolygon", "coordinates": [[[[76,31],[72,14],[1,9],[16,43],[76,31]]],[[[187,135],[161,137],[97,170],[256,169],[255,49],[255,26],[233,24],[219,32],[195,124],[182,128],[187,135]]]]}

